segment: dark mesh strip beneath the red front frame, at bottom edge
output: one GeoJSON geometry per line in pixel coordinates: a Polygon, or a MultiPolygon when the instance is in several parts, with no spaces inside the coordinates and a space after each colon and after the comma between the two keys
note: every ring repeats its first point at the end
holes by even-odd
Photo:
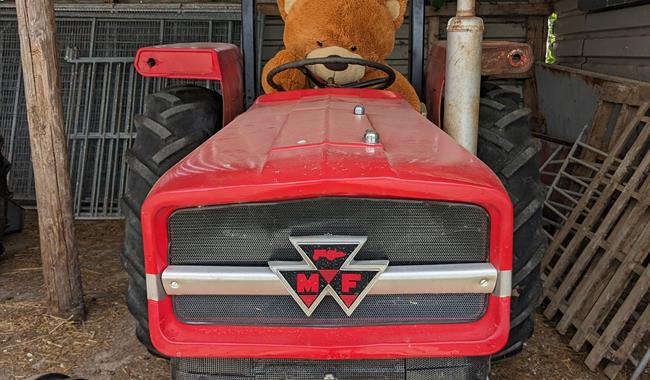
{"type": "Polygon", "coordinates": [[[489,359],[292,360],[172,358],[175,380],[486,379],[489,359]]]}

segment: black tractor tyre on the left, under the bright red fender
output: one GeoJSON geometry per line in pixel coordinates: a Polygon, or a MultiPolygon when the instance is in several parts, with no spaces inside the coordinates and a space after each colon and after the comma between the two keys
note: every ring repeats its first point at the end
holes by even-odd
{"type": "Polygon", "coordinates": [[[137,136],[127,153],[122,263],[129,276],[127,304],[137,322],[136,336],[159,356],[149,338],[140,208],[160,176],[221,128],[221,104],[214,91],[174,87],[147,96],[144,115],[134,119],[137,136]]]}

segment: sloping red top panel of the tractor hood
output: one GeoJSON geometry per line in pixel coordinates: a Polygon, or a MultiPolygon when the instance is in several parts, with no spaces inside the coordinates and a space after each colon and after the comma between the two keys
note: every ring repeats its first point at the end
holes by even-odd
{"type": "Polygon", "coordinates": [[[486,165],[395,94],[333,89],[259,98],[153,192],[378,177],[501,188],[486,165]],[[356,105],[365,116],[354,115],[356,105]],[[378,145],[363,143],[371,128],[378,145]]]}

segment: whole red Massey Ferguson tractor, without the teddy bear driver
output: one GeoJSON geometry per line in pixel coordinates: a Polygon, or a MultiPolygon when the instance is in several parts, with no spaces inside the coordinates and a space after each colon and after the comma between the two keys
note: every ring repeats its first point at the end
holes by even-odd
{"type": "Polygon", "coordinates": [[[144,76],[220,82],[148,96],[128,158],[129,309],[173,378],[486,378],[521,350],[541,296],[539,149],[519,95],[481,77],[532,57],[481,46],[473,1],[458,7],[424,85],[411,3],[430,120],[382,83],[255,99],[253,1],[243,63],[227,44],[138,52],[144,76]]]}

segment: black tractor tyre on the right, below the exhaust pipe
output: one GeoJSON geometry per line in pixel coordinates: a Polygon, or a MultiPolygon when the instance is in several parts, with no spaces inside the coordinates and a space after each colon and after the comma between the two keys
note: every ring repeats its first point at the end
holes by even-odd
{"type": "Polygon", "coordinates": [[[521,351],[533,334],[533,314],[542,300],[540,262],[544,189],[540,182],[539,144],[530,132],[530,110],[517,93],[485,84],[479,114],[478,157],[499,176],[514,207],[514,240],[510,338],[493,356],[502,359],[521,351]]]}

